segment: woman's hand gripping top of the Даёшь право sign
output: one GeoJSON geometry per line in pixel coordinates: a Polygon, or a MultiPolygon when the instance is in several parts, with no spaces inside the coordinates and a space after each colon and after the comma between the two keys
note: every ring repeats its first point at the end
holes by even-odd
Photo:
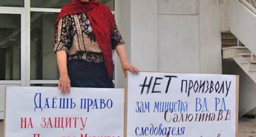
{"type": "Polygon", "coordinates": [[[60,88],[60,91],[62,94],[70,93],[70,79],[68,74],[61,75],[59,78],[59,84],[58,87],[60,88]]]}

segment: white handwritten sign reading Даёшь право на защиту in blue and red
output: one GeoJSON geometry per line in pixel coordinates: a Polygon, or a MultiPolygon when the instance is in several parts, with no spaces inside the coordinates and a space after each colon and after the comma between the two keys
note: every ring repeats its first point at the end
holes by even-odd
{"type": "Polygon", "coordinates": [[[124,90],[6,87],[4,137],[123,137],[124,90]]]}

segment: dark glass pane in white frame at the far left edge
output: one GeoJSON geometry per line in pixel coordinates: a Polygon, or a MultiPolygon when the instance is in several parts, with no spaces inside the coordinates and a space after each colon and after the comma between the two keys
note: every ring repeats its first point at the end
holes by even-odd
{"type": "Polygon", "coordinates": [[[21,80],[21,15],[0,19],[0,80],[21,80]]]}

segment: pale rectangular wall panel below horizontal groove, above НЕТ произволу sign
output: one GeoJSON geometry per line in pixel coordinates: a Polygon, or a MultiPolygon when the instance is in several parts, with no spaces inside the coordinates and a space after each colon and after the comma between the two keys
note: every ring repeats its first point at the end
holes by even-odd
{"type": "Polygon", "coordinates": [[[198,24],[198,15],[158,15],[158,71],[199,73],[198,24]]]}

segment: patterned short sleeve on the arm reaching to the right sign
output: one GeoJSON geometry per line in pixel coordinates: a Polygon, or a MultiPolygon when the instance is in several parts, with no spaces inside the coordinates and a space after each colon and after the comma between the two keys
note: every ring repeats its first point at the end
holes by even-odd
{"type": "Polygon", "coordinates": [[[111,37],[111,44],[112,44],[112,49],[116,49],[118,45],[124,44],[125,42],[123,41],[123,38],[119,32],[119,29],[117,28],[117,24],[115,24],[114,31],[112,33],[111,37]]]}

